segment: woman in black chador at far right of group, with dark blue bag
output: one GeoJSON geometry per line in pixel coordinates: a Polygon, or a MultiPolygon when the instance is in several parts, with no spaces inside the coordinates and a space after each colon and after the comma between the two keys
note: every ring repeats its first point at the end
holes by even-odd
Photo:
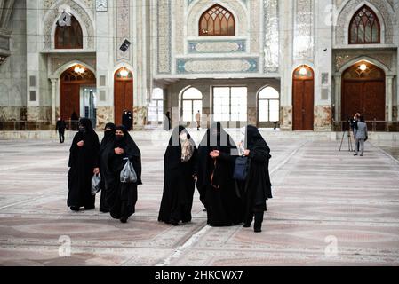
{"type": "Polygon", "coordinates": [[[244,155],[249,158],[249,172],[241,188],[244,205],[244,227],[250,227],[255,215],[255,232],[261,232],[263,214],[267,210],[266,201],[273,198],[268,162],[271,158],[270,148],[262,138],[259,130],[252,125],[245,128],[244,155]]]}

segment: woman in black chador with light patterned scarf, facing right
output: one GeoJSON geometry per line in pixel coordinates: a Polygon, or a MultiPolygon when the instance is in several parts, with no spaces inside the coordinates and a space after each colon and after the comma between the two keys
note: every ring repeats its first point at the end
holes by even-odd
{"type": "Polygon", "coordinates": [[[164,193],[158,221],[172,225],[191,221],[196,156],[196,144],[188,131],[176,127],[164,154],[164,193]]]}

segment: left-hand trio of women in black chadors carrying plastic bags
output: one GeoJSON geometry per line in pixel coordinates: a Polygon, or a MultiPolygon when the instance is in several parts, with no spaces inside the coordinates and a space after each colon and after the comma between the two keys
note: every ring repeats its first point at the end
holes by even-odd
{"type": "Polygon", "coordinates": [[[132,216],[137,201],[137,186],[141,185],[141,154],[124,126],[108,123],[104,138],[99,138],[92,129],[92,122],[82,118],[69,154],[68,207],[78,211],[94,209],[95,195],[92,195],[92,177],[101,177],[100,211],[109,212],[111,217],[126,223],[132,216]],[[134,183],[122,183],[121,170],[127,161],[137,175],[134,183]]]}

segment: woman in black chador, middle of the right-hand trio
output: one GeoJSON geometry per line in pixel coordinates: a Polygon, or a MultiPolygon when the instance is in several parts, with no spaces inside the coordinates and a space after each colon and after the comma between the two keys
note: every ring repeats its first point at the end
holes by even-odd
{"type": "Polygon", "coordinates": [[[233,180],[236,154],[235,143],[220,122],[212,124],[198,147],[196,184],[211,226],[243,222],[242,204],[233,180]]]}

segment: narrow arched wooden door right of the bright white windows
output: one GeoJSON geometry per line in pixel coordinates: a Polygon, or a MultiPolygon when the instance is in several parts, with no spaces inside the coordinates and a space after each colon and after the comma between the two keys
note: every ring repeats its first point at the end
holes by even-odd
{"type": "Polygon", "coordinates": [[[300,67],[294,71],[292,82],[292,130],[314,130],[315,83],[313,70],[300,67]],[[306,74],[300,70],[306,69],[306,74]]]}

